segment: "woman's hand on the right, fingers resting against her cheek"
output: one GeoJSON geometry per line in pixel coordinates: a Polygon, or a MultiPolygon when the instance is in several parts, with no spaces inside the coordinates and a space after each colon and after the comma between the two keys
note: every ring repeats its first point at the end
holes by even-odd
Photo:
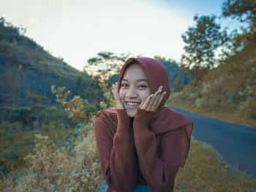
{"type": "Polygon", "coordinates": [[[166,91],[162,92],[162,85],[161,85],[154,94],[151,94],[150,96],[148,96],[146,101],[141,105],[140,109],[146,110],[146,111],[157,110],[165,94],[166,94],[166,91]]]}

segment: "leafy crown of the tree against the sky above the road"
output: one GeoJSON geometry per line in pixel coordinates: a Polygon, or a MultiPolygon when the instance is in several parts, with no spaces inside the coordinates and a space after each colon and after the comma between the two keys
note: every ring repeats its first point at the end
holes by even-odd
{"type": "Polygon", "coordinates": [[[214,51],[227,42],[227,32],[219,31],[221,26],[216,23],[217,16],[195,15],[195,27],[189,27],[182,34],[185,53],[181,57],[181,65],[189,69],[212,68],[217,62],[214,51]]]}

